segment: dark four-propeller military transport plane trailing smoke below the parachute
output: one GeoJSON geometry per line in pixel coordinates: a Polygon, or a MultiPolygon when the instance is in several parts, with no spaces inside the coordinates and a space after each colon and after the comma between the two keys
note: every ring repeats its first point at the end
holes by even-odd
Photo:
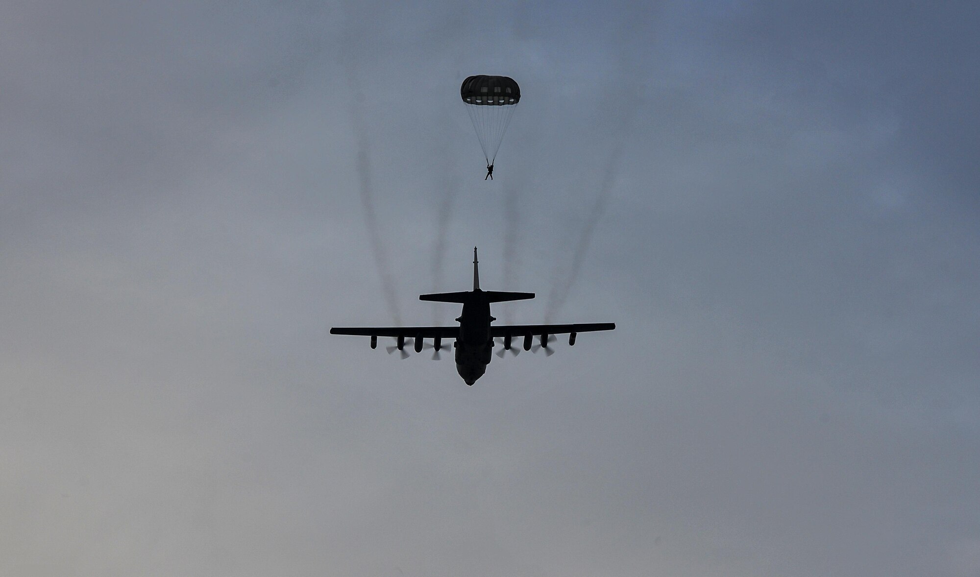
{"type": "Polygon", "coordinates": [[[486,372],[487,364],[490,363],[490,354],[493,352],[494,339],[498,339],[503,350],[498,355],[503,357],[504,351],[513,351],[516,355],[518,351],[511,349],[511,341],[514,337],[523,337],[524,351],[530,351],[532,338],[538,336],[540,345],[535,349],[544,349],[550,353],[548,348],[549,337],[554,340],[554,335],[570,333],[568,344],[575,344],[575,335],[580,332],[595,330],[613,330],[613,322],[592,322],[579,324],[509,324],[494,326],[491,323],[497,320],[490,315],[490,303],[502,303],[504,301],[520,301],[533,299],[534,293],[509,293],[502,291],[480,290],[479,264],[476,259],[476,249],[473,249],[473,290],[458,293],[436,293],[432,295],[419,295],[420,301],[435,301],[438,303],[462,303],[463,314],[456,320],[460,326],[391,326],[391,327],[333,327],[330,334],[333,335],[361,335],[370,337],[370,348],[377,348],[377,337],[394,337],[397,340],[397,347],[390,348],[389,352],[396,349],[402,352],[404,358],[408,357],[405,352],[406,340],[415,341],[416,353],[421,353],[425,339],[432,339],[431,347],[435,349],[436,355],[443,347],[443,340],[454,339],[453,347],[456,349],[456,370],[466,381],[467,385],[472,385],[476,379],[483,376],[486,372]]]}

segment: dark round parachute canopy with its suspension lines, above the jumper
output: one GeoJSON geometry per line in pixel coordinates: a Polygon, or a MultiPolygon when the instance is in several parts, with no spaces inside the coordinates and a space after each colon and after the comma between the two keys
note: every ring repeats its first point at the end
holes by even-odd
{"type": "Polygon", "coordinates": [[[460,96],[473,121],[487,166],[492,166],[520,102],[520,86],[509,76],[469,76],[460,87],[460,96]]]}

